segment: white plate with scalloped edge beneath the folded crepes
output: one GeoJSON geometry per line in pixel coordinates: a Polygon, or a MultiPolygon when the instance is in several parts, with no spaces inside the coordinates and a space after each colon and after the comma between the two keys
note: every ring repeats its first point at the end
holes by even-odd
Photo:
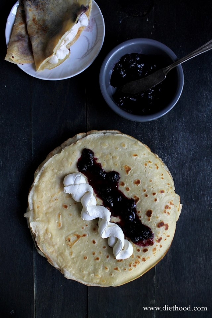
{"type": "MultiPolygon", "coordinates": [[[[5,37],[9,44],[13,24],[15,22],[18,1],[7,18],[5,37]]],[[[71,56],[52,70],[36,72],[35,64],[18,65],[25,73],[38,79],[59,80],[73,77],[83,72],[92,64],[99,54],[105,38],[105,23],[97,3],[93,0],[91,17],[88,26],[79,39],[71,46],[71,56]]]]}

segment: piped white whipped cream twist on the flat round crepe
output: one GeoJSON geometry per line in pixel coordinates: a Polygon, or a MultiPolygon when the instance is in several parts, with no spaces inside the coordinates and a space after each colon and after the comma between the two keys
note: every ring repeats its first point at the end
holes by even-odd
{"type": "Polygon", "coordinates": [[[111,212],[102,205],[96,205],[93,188],[86,183],[85,177],[77,172],[65,176],[64,193],[70,193],[72,198],[82,203],[81,218],[86,221],[99,218],[99,235],[108,238],[108,245],[113,247],[116,259],[127,259],[133,254],[132,244],[124,238],[119,225],[110,222],[111,212]]]}

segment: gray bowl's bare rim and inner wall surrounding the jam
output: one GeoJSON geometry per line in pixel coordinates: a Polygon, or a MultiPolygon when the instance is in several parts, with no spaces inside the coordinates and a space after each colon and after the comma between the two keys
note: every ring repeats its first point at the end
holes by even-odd
{"type": "MultiPolygon", "coordinates": [[[[113,100],[113,94],[116,89],[110,85],[110,78],[113,71],[113,67],[120,60],[122,56],[129,53],[141,53],[146,55],[160,55],[168,59],[168,64],[177,60],[176,55],[172,50],[170,50],[166,45],[161,42],[147,39],[147,38],[136,38],[128,40],[116,46],[104,59],[100,74],[99,74],[99,85],[101,93],[106,101],[106,103],[113,109],[113,111],[120,116],[132,120],[132,121],[151,121],[157,119],[165,114],[167,114],[179,100],[183,84],[184,76],[182,66],[179,65],[175,68],[175,86],[173,97],[167,105],[164,105],[164,108],[151,115],[134,115],[130,114],[127,111],[121,109],[113,100]]],[[[168,75],[167,75],[168,76],[168,75]]]]}

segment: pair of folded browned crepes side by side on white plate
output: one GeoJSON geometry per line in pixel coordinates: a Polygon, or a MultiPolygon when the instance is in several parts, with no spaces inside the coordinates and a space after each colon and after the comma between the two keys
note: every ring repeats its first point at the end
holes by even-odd
{"type": "MultiPolygon", "coordinates": [[[[5,60],[16,63],[35,63],[36,70],[52,69],[49,59],[55,54],[82,13],[90,18],[92,0],[22,0],[17,9],[5,60]]],[[[80,27],[67,49],[79,38],[80,27]]]]}

